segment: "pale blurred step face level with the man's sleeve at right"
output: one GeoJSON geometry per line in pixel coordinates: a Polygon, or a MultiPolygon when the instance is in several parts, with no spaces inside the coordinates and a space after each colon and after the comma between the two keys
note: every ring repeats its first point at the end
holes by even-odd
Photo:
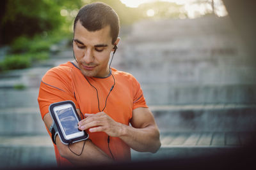
{"type": "Polygon", "coordinates": [[[256,103],[256,85],[142,83],[148,105],[256,103]]]}

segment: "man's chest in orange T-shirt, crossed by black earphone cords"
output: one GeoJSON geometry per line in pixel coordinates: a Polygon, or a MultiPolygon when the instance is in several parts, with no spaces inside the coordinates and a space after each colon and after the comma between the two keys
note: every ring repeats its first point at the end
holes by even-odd
{"type": "Polygon", "coordinates": [[[73,85],[81,113],[104,111],[117,122],[128,125],[132,117],[133,105],[131,85],[127,82],[116,81],[115,87],[110,92],[113,86],[111,80],[91,80],[90,83],[79,79],[73,85]]]}

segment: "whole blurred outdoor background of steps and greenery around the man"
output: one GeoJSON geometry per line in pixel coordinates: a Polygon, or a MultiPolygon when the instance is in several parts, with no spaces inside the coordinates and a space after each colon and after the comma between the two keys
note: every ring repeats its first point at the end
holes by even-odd
{"type": "MultiPolygon", "coordinates": [[[[38,89],[48,69],[72,60],[74,18],[92,2],[1,1],[1,168],[56,166],[38,89]]],[[[132,150],[132,160],[202,158],[253,146],[253,1],[102,2],[120,17],[121,41],[112,66],[141,83],[161,132],[159,152],[132,150]]]]}

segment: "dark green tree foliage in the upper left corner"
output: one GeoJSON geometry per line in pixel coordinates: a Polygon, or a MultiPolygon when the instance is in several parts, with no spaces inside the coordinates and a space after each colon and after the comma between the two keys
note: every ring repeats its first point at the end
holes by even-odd
{"type": "Polygon", "coordinates": [[[44,31],[59,29],[65,18],[60,15],[58,1],[8,0],[1,18],[3,44],[22,35],[33,37],[44,31]]]}

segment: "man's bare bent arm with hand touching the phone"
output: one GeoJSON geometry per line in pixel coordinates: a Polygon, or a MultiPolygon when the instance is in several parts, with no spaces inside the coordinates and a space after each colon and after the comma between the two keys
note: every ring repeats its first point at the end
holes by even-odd
{"type": "Polygon", "coordinates": [[[106,113],[85,114],[79,122],[79,129],[90,132],[106,132],[109,136],[122,139],[133,150],[155,153],[160,148],[159,130],[148,108],[132,111],[131,125],[115,122],[106,113]]]}

